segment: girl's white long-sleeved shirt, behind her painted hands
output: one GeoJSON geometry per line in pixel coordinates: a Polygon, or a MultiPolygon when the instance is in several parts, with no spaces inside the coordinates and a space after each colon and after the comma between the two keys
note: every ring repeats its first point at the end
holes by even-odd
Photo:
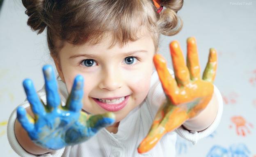
{"type": "MultiPolygon", "coordinates": [[[[170,70],[173,75],[173,71],[170,70]]],[[[65,84],[58,80],[59,92],[62,104],[65,104],[68,92],[65,84]]],[[[214,93],[217,96],[218,111],[214,122],[205,130],[189,131],[183,126],[175,131],[167,133],[149,152],[144,154],[137,153],[137,147],[142,139],[146,137],[149,128],[153,122],[160,104],[165,101],[165,93],[162,89],[157,72],[151,76],[151,87],[144,101],[137,108],[120,121],[118,132],[116,134],[108,132],[105,128],[101,129],[94,137],[74,146],[56,150],[40,157],[175,157],[175,144],[177,133],[181,137],[196,144],[201,138],[207,137],[219,125],[223,102],[219,90],[214,86],[214,93]]],[[[44,87],[38,91],[39,97],[46,103],[46,93],[44,87]]],[[[29,107],[27,101],[21,104],[23,107],[29,107]]],[[[16,120],[16,109],[11,113],[7,126],[7,137],[11,147],[21,157],[36,157],[36,155],[27,153],[18,143],[14,134],[14,123],[16,120]]]]}

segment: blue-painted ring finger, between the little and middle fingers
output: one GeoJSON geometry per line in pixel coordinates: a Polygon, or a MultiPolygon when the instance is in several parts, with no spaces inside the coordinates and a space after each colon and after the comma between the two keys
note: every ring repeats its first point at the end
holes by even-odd
{"type": "Polygon", "coordinates": [[[43,115],[45,114],[44,106],[39,99],[37,92],[34,88],[33,82],[30,79],[25,79],[23,81],[23,88],[27,95],[27,100],[30,103],[31,109],[34,115],[43,115]]]}

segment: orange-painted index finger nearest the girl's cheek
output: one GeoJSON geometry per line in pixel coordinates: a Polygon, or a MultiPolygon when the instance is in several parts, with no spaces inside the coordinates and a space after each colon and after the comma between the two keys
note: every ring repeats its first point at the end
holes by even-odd
{"type": "Polygon", "coordinates": [[[153,57],[153,61],[155,64],[155,69],[158,72],[162,88],[165,91],[165,94],[171,98],[173,93],[178,90],[178,86],[175,79],[171,76],[167,69],[166,60],[160,54],[156,54],[153,57]]]}

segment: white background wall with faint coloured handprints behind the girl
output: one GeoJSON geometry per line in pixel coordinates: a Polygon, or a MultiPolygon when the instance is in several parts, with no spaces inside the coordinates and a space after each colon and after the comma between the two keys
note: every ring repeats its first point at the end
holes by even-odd
{"type": "MultiPolygon", "coordinates": [[[[52,64],[46,33],[32,32],[24,12],[18,0],[5,0],[0,12],[0,151],[3,157],[18,156],[7,142],[6,122],[25,99],[23,79],[29,77],[37,89],[41,88],[44,84],[41,68],[52,64]]],[[[214,47],[219,61],[215,85],[224,98],[224,113],[216,132],[195,146],[178,139],[178,156],[206,157],[213,146],[219,146],[228,156],[232,155],[231,147],[235,147],[240,150],[237,151],[240,157],[255,157],[256,1],[185,0],[178,15],[184,21],[183,30],[172,37],[161,36],[160,53],[171,67],[169,42],[178,40],[186,55],[186,38],[194,36],[203,71],[209,48],[214,47]],[[231,122],[234,116],[245,119],[245,124],[238,128],[240,132],[245,130],[245,136],[236,132],[236,125],[231,122]]]]}

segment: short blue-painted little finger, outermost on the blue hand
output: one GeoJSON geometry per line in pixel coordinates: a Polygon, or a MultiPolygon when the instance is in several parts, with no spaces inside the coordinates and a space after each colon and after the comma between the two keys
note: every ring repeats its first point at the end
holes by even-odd
{"type": "Polygon", "coordinates": [[[30,117],[30,120],[27,117],[25,108],[18,106],[17,108],[17,119],[20,122],[21,126],[29,133],[34,130],[34,124],[32,123],[34,119],[30,117]]]}

